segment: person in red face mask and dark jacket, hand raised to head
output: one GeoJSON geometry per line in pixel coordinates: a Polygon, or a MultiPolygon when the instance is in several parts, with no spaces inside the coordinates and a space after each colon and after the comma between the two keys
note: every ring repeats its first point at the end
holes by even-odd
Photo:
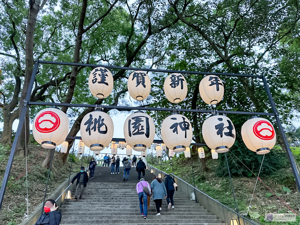
{"type": "Polygon", "coordinates": [[[56,206],[55,201],[48,199],[44,205],[45,213],[38,218],[35,225],[58,225],[61,220],[61,212],[56,211],[56,209],[58,209],[58,206],[56,206]]]}

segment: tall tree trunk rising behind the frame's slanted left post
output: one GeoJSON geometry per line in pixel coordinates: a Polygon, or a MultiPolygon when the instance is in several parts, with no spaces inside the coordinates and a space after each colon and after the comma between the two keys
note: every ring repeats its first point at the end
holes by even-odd
{"type": "MultiPolygon", "coordinates": [[[[26,28],[26,42],[25,42],[25,77],[24,77],[24,84],[22,89],[22,94],[20,98],[19,104],[19,119],[22,113],[22,109],[24,106],[24,100],[26,98],[26,94],[29,90],[29,82],[32,75],[33,70],[33,40],[34,40],[34,33],[35,33],[35,24],[36,18],[38,16],[38,11],[40,7],[40,0],[30,0],[29,1],[29,11],[28,11],[28,21],[27,21],[27,28],[26,28]]],[[[27,110],[25,116],[25,124],[22,127],[21,137],[18,143],[18,155],[25,154],[25,143],[27,143],[27,148],[29,147],[29,112],[27,110]],[[25,129],[26,129],[26,137],[25,137],[25,129]]]]}

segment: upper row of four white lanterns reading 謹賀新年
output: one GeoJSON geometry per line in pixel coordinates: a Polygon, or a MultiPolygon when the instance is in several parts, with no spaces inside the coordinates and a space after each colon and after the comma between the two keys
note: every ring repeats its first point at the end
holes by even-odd
{"type": "MultiPolygon", "coordinates": [[[[104,67],[93,69],[88,78],[88,87],[96,98],[107,98],[113,90],[113,75],[104,67]]],[[[137,101],[145,100],[151,91],[151,81],[144,71],[134,71],[128,77],[129,95],[137,101]]],[[[215,105],[224,95],[224,86],[219,77],[205,76],[199,84],[199,92],[203,101],[215,105]]],[[[167,99],[175,104],[184,100],[187,95],[187,82],[180,73],[172,73],[164,80],[164,93],[167,99]]]]}

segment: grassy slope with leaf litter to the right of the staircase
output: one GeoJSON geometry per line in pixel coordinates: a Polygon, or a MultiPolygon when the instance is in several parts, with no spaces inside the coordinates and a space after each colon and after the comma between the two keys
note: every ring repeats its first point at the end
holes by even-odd
{"type": "MultiPolygon", "coordinates": [[[[299,160],[300,164],[300,151],[293,149],[295,154],[295,160],[299,160]]],[[[149,160],[149,163],[152,162],[149,160]]],[[[207,171],[205,175],[199,173],[199,158],[196,154],[193,154],[193,169],[195,177],[195,186],[202,190],[204,193],[208,194],[219,202],[229,206],[234,209],[235,204],[232,196],[232,188],[230,185],[229,176],[218,177],[215,175],[217,169],[221,169],[218,165],[218,160],[208,160],[206,161],[207,171]]],[[[160,169],[160,163],[155,165],[160,169]]],[[[179,157],[173,159],[174,174],[179,176],[183,180],[190,184],[193,184],[193,177],[191,173],[191,161],[190,159],[184,158],[184,153],[179,157]]],[[[227,170],[227,168],[224,168],[227,170]]],[[[165,161],[162,163],[162,170],[172,173],[171,161],[165,161]]],[[[271,190],[273,190],[279,197],[298,215],[300,215],[300,193],[293,181],[292,170],[290,168],[283,168],[276,171],[271,176],[259,176],[271,190]],[[283,187],[288,187],[290,192],[283,190],[283,187]]],[[[235,176],[232,177],[232,183],[235,191],[235,198],[237,200],[238,210],[240,214],[247,213],[247,207],[249,206],[250,199],[253,193],[253,188],[255,186],[256,177],[243,177],[235,176]]],[[[250,215],[253,220],[257,223],[268,223],[264,222],[265,213],[289,213],[291,210],[283,204],[271,191],[262,183],[257,182],[253,200],[251,203],[250,215]],[[258,217],[258,218],[256,218],[258,217]]],[[[297,216],[296,222],[272,222],[273,225],[299,225],[300,217],[297,216]]]]}

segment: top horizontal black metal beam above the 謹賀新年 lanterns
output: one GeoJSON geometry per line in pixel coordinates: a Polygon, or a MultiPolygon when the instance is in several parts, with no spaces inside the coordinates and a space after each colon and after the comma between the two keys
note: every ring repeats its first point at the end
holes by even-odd
{"type": "Polygon", "coordinates": [[[186,74],[202,74],[202,75],[219,75],[219,76],[245,76],[245,77],[257,77],[262,78],[261,75],[253,74],[239,74],[239,73],[208,73],[201,71],[185,71],[185,70],[160,70],[160,69],[146,69],[146,68],[135,68],[135,67],[122,67],[122,66],[109,66],[109,65],[97,65],[97,64],[85,64],[85,63],[74,63],[74,62],[52,62],[52,61],[39,61],[43,64],[55,64],[55,65],[68,65],[68,66],[86,66],[86,67],[104,67],[107,69],[118,69],[118,70],[142,70],[151,72],[162,72],[162,73],[186,73],[186,74]]]}

